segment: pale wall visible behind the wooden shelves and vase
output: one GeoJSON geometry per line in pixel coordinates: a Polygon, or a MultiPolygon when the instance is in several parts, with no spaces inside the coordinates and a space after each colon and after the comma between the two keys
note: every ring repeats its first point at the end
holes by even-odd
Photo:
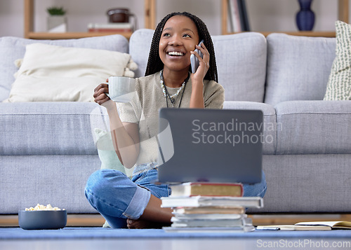
{"type": "MultiPolygon", "coordinates": [[[[0,0],[0,36],[23,37],[23,0],[0,0]]],[[[107,22],[109,8],[129,8],[138,16],[138,27],[144,27],[143,0],[35,0],[34,29],[46,31],[46,8],[63,6],[67,9],[69,32],[86,32],[89,22],[107,22]]],[[[296,31],[297,0],[246,0],[251,30],[296,31]]],[[[333,31],[337,17],[337,0],[314,0],[316,14],[314,31],[333,31]]],[[[351,6],[350,6],[351,8],[351,6]]],[[[212,35],[219,35],[220,0],[157,0],[157,22],[173,11],[188,11],[199,16],[212,35]]]]}

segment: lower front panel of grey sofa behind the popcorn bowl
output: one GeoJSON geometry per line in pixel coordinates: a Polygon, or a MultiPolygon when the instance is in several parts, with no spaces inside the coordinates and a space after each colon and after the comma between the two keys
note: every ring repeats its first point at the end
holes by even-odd
{"type": "Polygon", "coordinates": [[[84,186],[100,167],[98,155],[0,155],[0,162],[1,214],[17,214],[38,203],[69,214],[96,213],[84,186]]]}

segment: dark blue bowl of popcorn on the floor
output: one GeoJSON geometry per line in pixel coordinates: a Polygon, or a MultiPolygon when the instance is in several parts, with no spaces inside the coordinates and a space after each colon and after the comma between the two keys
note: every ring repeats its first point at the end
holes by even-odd
{"type": "Polygon", "coordinates": [[[22,229],[60,229],[65,228],[66,223],[67,211],[58,207],[52,207],[51,204],[46,206],[37,204],[35,207],[18,211],[18,224],[22,229]]]}

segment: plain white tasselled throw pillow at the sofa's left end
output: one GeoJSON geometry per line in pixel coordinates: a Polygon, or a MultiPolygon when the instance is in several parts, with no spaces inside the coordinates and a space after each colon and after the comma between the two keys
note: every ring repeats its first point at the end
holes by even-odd
{"type": "Polygon", "coordinates": [[[16,63],[20,69],[4,102],[93,102],[99,83],[131,73],[129,54],[44,43],[27,45],[25,57],[16,63]]]}

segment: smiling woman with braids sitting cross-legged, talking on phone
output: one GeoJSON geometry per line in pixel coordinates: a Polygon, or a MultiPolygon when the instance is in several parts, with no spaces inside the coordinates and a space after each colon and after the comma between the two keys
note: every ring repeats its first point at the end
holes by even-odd
{"type": "Polygon", "coordinates": [[[132,179],[101,169],[86,184],[88,201],[112,228],[159,228],[171,223],[171,209],[161,208],[159,199],[170,194],[168,185],[150,183],[157,179],[158,111],[161,107],[222,109],[224,89],[217,81],[215,52],[204,22],[190,13],[171,13],[157,25],[145,76],[136,79],[138,95],[130,103],[119,104],[118,113],[106,95],[108,85],[95,88],[95,102],[107,109],[119,160],[124,167],[135,166],[132,179]],[[190,74],[192,54],[199,59],[195,74],[190,74]]]}

